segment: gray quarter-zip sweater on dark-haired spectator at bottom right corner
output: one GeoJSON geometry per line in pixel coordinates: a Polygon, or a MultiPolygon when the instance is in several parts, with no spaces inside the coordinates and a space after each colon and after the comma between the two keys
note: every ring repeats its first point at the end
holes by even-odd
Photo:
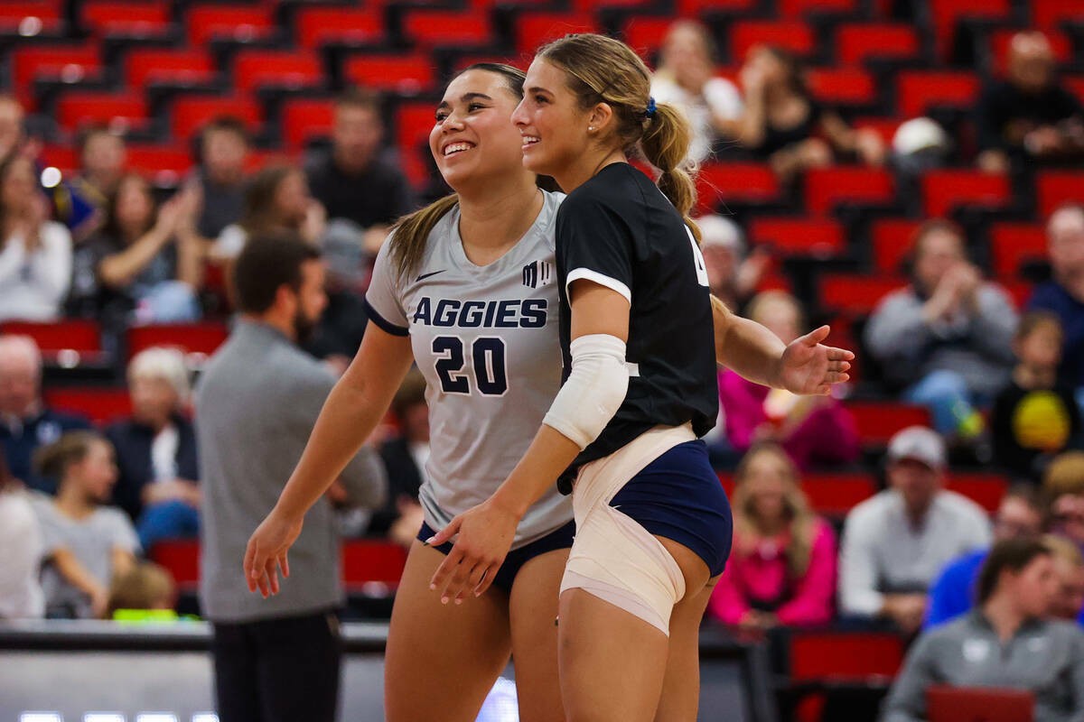
{"type": "Polygon", "coordinates": [[[1002,644],[981,612],[924,634],[907,655],[885,704],[882,722],[926,719],[926,690],[1024,690],[1035,695],[1034,722],[1084,721],[1084,631],[1069,621],[1032,620],[1002,644]]]}

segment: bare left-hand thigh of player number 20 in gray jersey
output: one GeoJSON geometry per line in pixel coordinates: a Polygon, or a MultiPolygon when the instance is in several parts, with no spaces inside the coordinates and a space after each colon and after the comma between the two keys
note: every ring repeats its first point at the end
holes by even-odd
{"type": "Polygon", "coordinates": [[[415,540],[391,611],[384,664],[388,722],[473,722],[508,662],[508,602],[492,589],[441,604],[429,580],[444,555],[415,540]]]}

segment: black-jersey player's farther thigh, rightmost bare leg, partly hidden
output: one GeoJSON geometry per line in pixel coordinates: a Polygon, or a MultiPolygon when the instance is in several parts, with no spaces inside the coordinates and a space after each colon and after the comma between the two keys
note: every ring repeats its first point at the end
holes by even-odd
{"type": "Polygon", "coordinates": [[[686,594],[670,615],[670,654],[655,722],[695,722],[700,704],[700,620],[719,577],[686,594]]]}

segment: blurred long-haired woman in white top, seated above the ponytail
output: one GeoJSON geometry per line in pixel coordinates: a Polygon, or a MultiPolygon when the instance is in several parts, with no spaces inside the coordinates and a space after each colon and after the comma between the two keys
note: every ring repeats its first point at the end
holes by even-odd
{"type": "Polygon", "coordinates": [[[659,67],[651,78],[656,103],[682,108],[693,124],[688,155],[702,161],[719,137],[733,136],[741,117],[741,94],[733,82],[715,75],[715,47],[711,31],[697,21],[670,26],[662,40],[659,67]]]}

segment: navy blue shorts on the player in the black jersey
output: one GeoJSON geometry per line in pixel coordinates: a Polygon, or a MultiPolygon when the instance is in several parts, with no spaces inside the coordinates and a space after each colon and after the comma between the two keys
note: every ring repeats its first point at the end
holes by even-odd
{"type": "Polygon", "coordinates": [[[702,441],[674,446],[621,487],[610,506],[649,533],[688,547],[714,577],[731,555],[731,502],[702,441]]]}

